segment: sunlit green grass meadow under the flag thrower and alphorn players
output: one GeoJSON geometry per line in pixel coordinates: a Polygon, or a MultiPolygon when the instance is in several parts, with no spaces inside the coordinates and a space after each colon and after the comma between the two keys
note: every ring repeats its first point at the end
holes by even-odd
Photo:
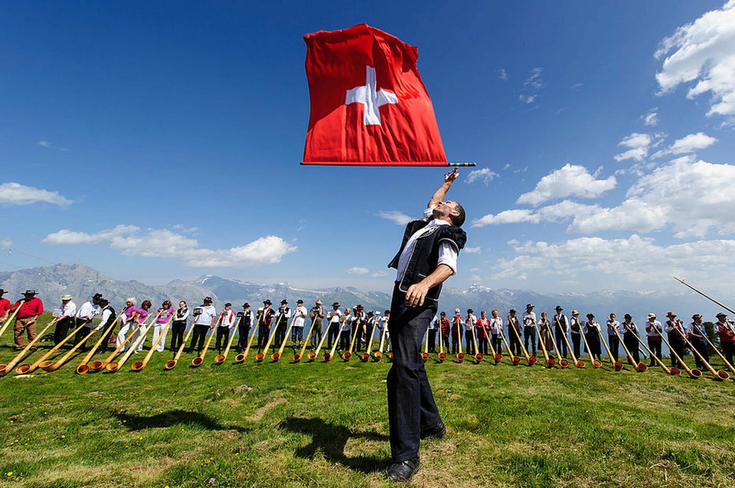
{"type": "MultiPolygon", "coordinates": [[[[0,363],[11,341],[0,338],[0,363]]],[[[387,485],[387,362],[213,365],[211,354],[190,368],[184,354],[163,371],[170,357],[78,376],[78,354],[0,378],[0,486],[387,485]]],[[[427,370],[448,435],[422,442],[416,486],[735,485],[735,382],[609,363],[432,357],[427,370]]]]}

